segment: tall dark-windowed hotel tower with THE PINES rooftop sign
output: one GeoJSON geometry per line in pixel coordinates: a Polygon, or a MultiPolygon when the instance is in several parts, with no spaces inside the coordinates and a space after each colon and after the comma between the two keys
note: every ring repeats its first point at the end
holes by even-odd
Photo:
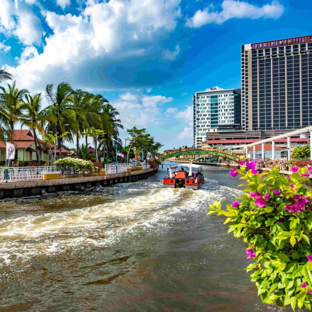
{"type": "Polygon", "coordinates": [[[312,124],[312,36],[241,47],[242,129],[312,124]]]}

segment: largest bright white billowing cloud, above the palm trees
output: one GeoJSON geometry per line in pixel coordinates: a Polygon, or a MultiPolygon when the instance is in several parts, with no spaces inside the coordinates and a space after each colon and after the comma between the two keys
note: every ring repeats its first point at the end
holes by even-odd
{"type": "MultiPolygon", "coordinates": [[[[1,0],[0,3],[2,1],[11,0],[1,0]]],[[[53,34],[45,38],[43,51],[15,68],[6,66],[6,70],[23,87],[42,90],[48,82],[71,82],[75,77],[74,73],[79,72],[81,67],[90,68],[86,66],[88,62],[112,64],[129,57],[138,58],[146,53],[153,53],[153,49],[141,48],[141,42],[153,47],[156,35],[175,29],[177,19],[181,16],[179,2],[180,0],[89,0],[79,16],[44,11],[43,15],[53,34]]],[[[0,18],[3,24],[2,15],[0,18]]],[[[14,20],[5,20],[6,17],[4,14],[4,22],[12,27],[14,20]]],[[[105,89],[103,83],[98,82],[97,87],[96,82],[98,81],[90,84],[95,89],[105,89]]],[[[84,82],[81,83],[83,87],[84,82]]]]}

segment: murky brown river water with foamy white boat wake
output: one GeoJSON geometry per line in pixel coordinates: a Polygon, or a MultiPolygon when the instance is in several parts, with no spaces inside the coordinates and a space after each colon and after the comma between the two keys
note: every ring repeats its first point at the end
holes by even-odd
{"type": "Polygon", "coordinates": [[[243,271],[247,246],[207,215],[241,194],[228,172],[204,166],[198,191],[162,188],[164,168],[1,202],[0,311],[291,311],[261,303],[243,271]]]}

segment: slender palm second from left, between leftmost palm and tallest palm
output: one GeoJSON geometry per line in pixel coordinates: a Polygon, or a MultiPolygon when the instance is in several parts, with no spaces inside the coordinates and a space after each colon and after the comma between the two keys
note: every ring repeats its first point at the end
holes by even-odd
{"type": "Polygon", "coordinates": [[[45,134],[44,125],[46,124],[46,122],[55,122],[56,117],[53,115],[42,116],[41,93],[36,94],[34,97],[26,94],[25,98],[25,114],[23,114],[23,117],[20,118],[20,122],[22,125],[26,125],[33,132],[38,166],[40,166],[37,131],[40,134],[45,134]]]}

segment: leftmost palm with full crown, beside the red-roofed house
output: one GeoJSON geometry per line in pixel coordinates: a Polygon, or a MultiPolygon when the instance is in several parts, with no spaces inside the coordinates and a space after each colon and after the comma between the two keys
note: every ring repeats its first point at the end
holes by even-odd
{"type": "Polygon", "coordinates": [[[14,141],[14,125],[22,116],[25,107],[23,97],[29,93],[26,89],[18,89],[16,81],[12,85],[8,84],[8,90],[0,86],[0,123],[2,128],[9,129],[9,141],[14,141]]]}

